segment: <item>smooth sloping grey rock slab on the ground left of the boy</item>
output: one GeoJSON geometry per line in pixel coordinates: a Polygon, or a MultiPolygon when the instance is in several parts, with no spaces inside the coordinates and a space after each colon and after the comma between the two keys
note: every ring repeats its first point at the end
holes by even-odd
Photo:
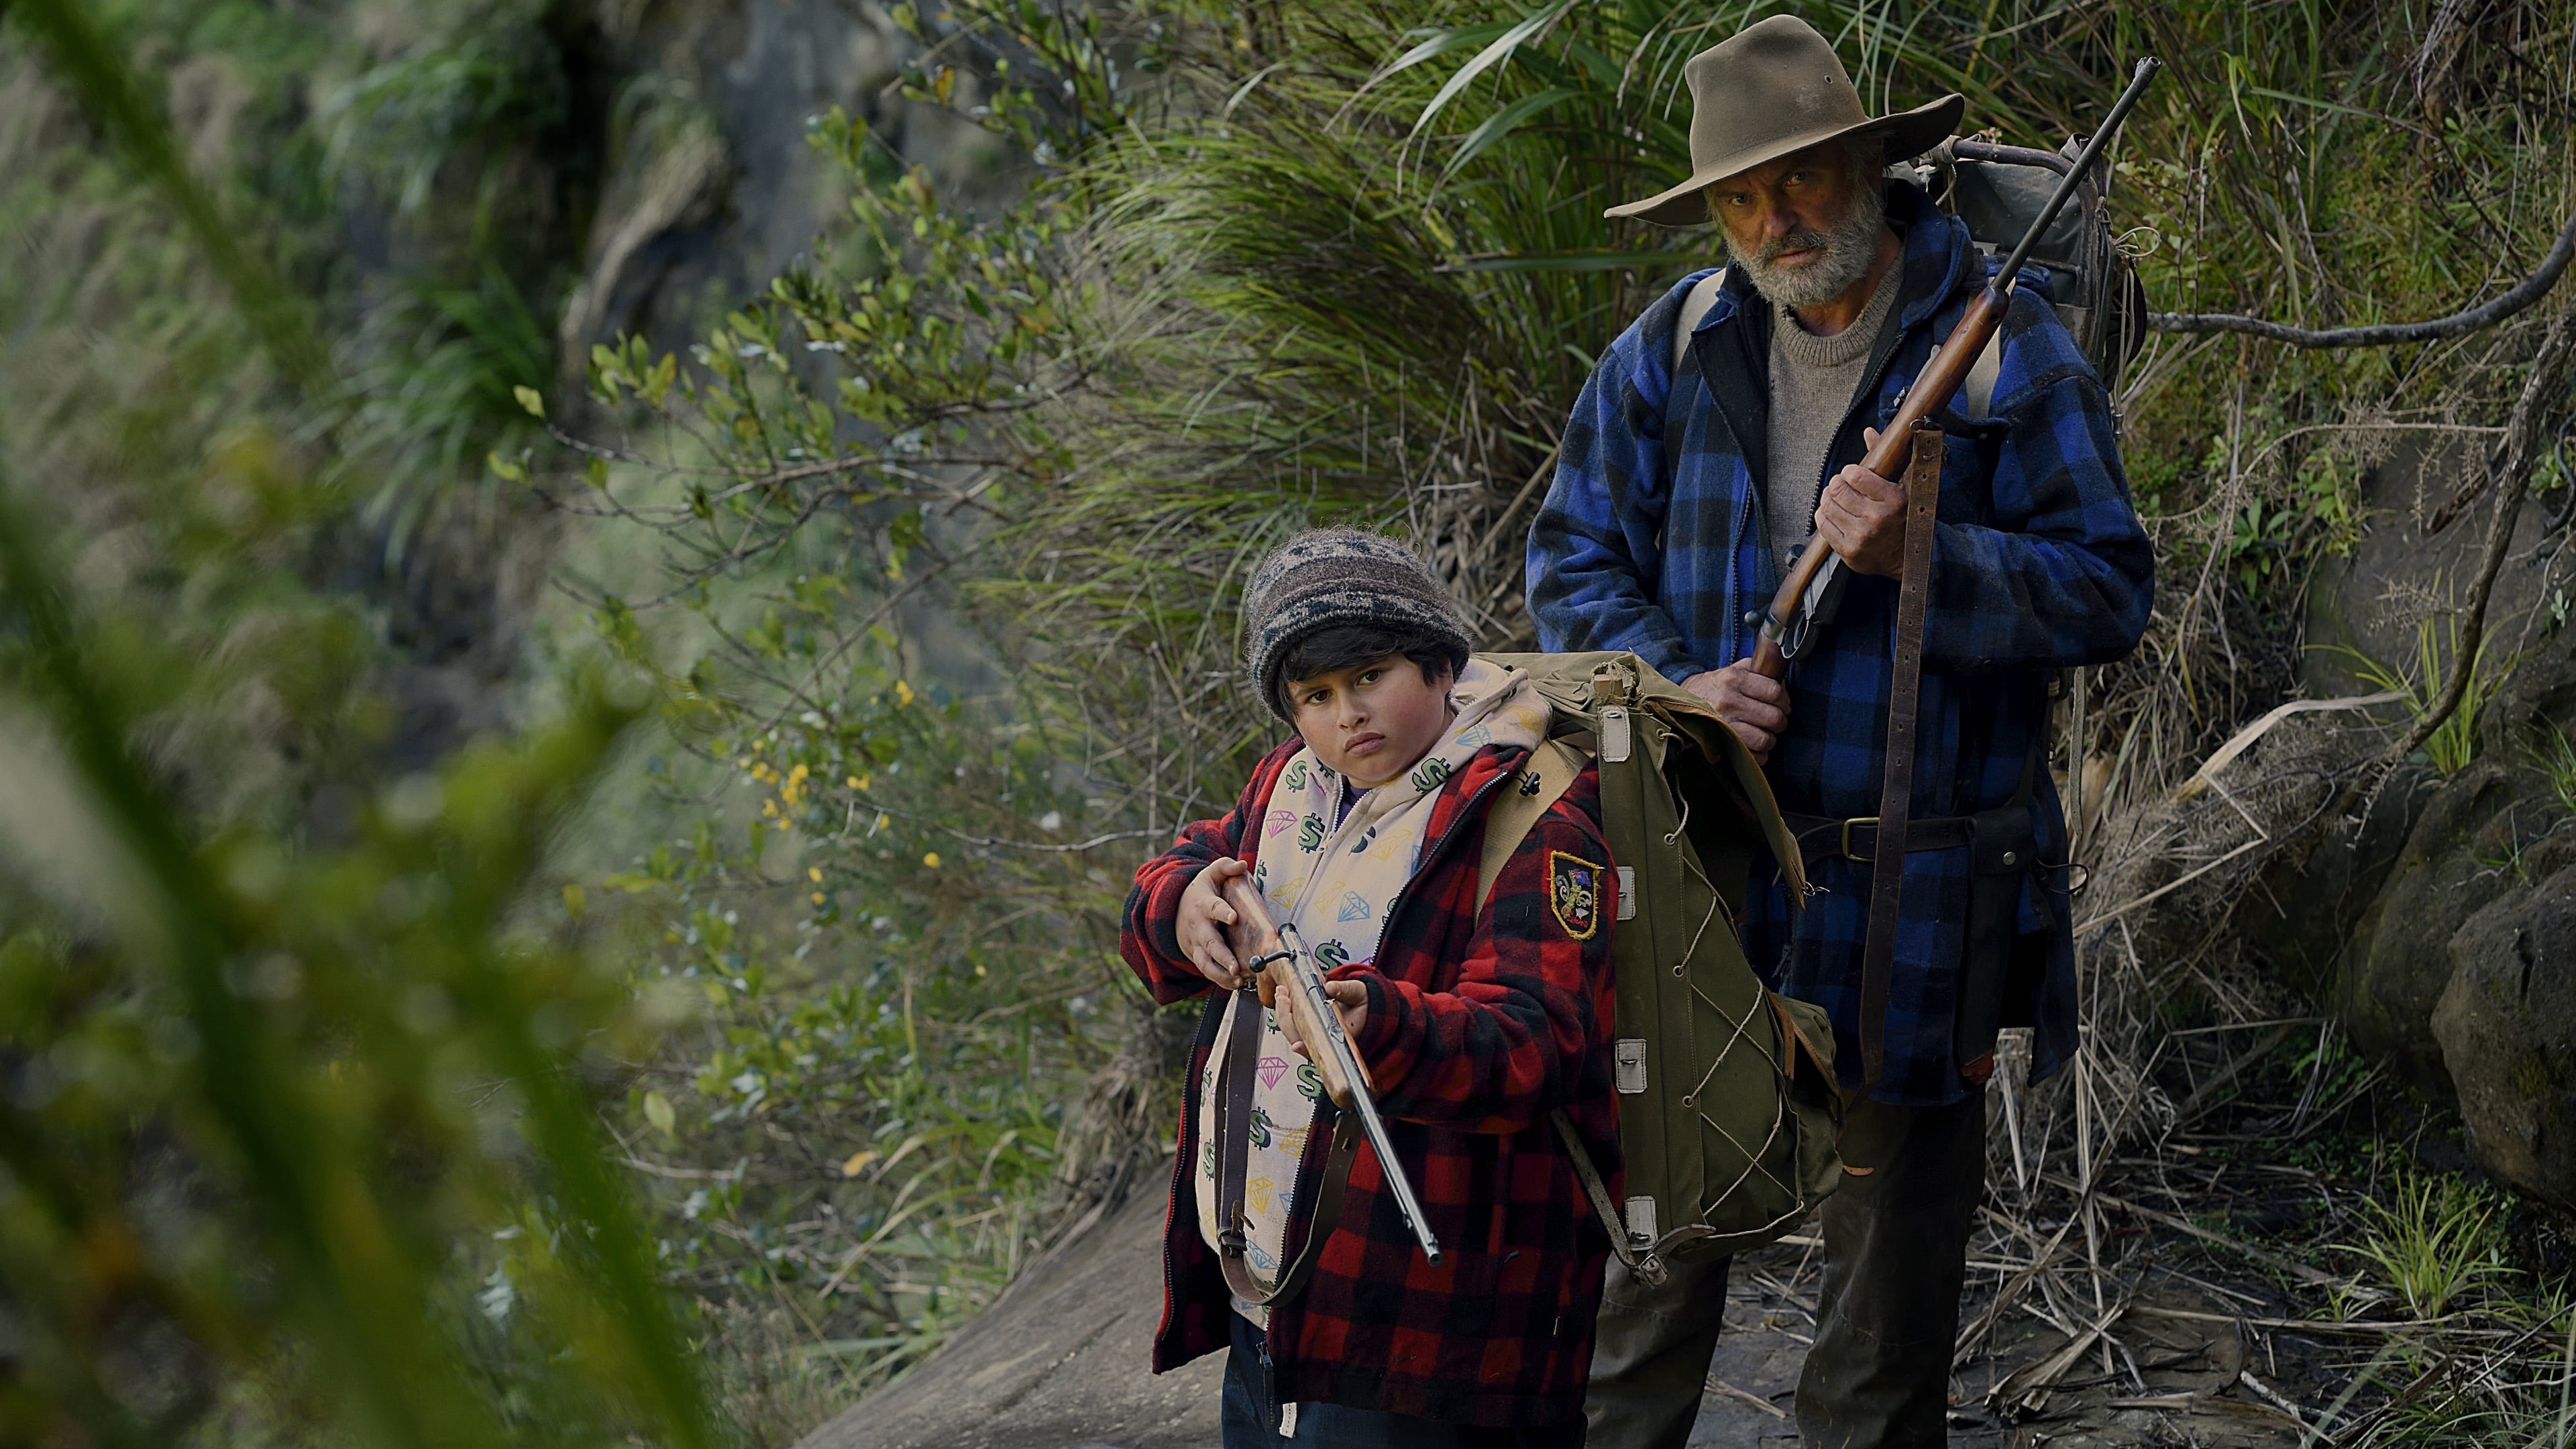
{"type": "Polygon", "coordinates": [[[1146,1372],[1162,1318],[1164,1194],[1154,1183],[801,1449],[1213,1446],[1226,1356],[1146,1372]]]}

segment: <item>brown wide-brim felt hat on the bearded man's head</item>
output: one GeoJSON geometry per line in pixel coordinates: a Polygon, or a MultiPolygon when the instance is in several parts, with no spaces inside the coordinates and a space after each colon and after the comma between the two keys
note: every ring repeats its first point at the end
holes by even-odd
{"type": "Polygon", "coordinates": [[[1690,180],[1613,206],[1605,217],[1643,217],[1662,227],[1708,222],[1700,191],[1716,180],[1842,137],[1878,137],[1888,160],[1917,157],[1947,139],[1968,108],[1965,98],[1942,95],[1873,119],[1834,46],[1795,15],[1744,26],[1690,57],[1682,80],[1690,83],[1690,180]]]}

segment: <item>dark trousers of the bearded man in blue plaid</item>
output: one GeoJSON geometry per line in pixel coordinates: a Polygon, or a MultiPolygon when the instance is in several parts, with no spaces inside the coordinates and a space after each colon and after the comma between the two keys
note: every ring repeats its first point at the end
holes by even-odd
{"type": "MultiPolygon", "coordinates": [[[[1986,1194],[1986,1101],[1862,1104],[1824,1201],[1816,1346],[1798,1374],[1806,1449],[1922,1449],[1950,1439],[1950,1354],[1968,1230],[1986,1194]]],[[[1595,1449],[1682,1449],[1726,1315],[1726,1258],[1638,1287],[1613,1258],[1584,1418],[1595,1449]]],[[[1231,1449],[1231,1441],[1229,1441],[1231,1449]]]]}

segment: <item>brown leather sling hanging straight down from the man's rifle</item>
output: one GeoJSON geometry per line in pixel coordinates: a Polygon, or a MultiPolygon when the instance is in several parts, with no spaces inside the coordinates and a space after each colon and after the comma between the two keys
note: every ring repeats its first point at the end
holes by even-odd
{"type": "Polygon", "coordinates": [[[1870,859],[1870,928],[1860,949],[1860,1073],[1878,1085],[1888,1057],[1888,975],[1906,892],[1906,830],[1914,820],[1914,724],[1924,676],[1924,611],[1932,601],[1932,523],[1940,511],[1942,436],[1914,423],[1906,464],[1906,572],[1896,585],[1896,670],[1888,681],[1888,766],[1878,786],[1878,846],[1870,859]]]}

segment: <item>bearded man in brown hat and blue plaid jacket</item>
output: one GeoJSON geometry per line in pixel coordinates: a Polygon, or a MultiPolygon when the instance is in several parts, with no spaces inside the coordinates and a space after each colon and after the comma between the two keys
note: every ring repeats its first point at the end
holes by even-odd
{"type": "MultiPolygon", "coordinates": [[[[1716,219],[1728,268],[1677,284],[1592,371],[1530,529],[1548,650],[1636,650],[1765,761],[1816,895],[1747,892],[1747,957],[1834,1018],[1852,1106],[1824,1207],[1808,1446],[1942,1444],[1968,1230],[1984,1196],[1996,1021],[2032,1026],[2032,1078],[2076,1049],[2066,820],[2045,766],[2048,678],[2123,657],[2154,557],[2110,397],[2022,273],[1978,418],[1940,415],[1945,459],[1924,629],[1914,825],[1883,1016],[1860,1080],[1860,954],[1878,851],[1904,490],[1860,467],[1991,260],[1891,160],[1950,134],[1960,98],[1870,119],[1834,49],[1770,18],[1685,67],[1692,178],[1610,217],[1716,219]],[[1687,327],[1687,338],[1685,338],[1687,327]],[[1783,570],[1821,534],[1832,624],[1785,681],[1752,670],[1783,570]]],[[[1891,843],[1896,846],[1896,843],[1891,843]]],[[[1726,1302],[1726,1263],[1602,1302],[1592,1444],[1680,1446],[1726,1302]]]]}

